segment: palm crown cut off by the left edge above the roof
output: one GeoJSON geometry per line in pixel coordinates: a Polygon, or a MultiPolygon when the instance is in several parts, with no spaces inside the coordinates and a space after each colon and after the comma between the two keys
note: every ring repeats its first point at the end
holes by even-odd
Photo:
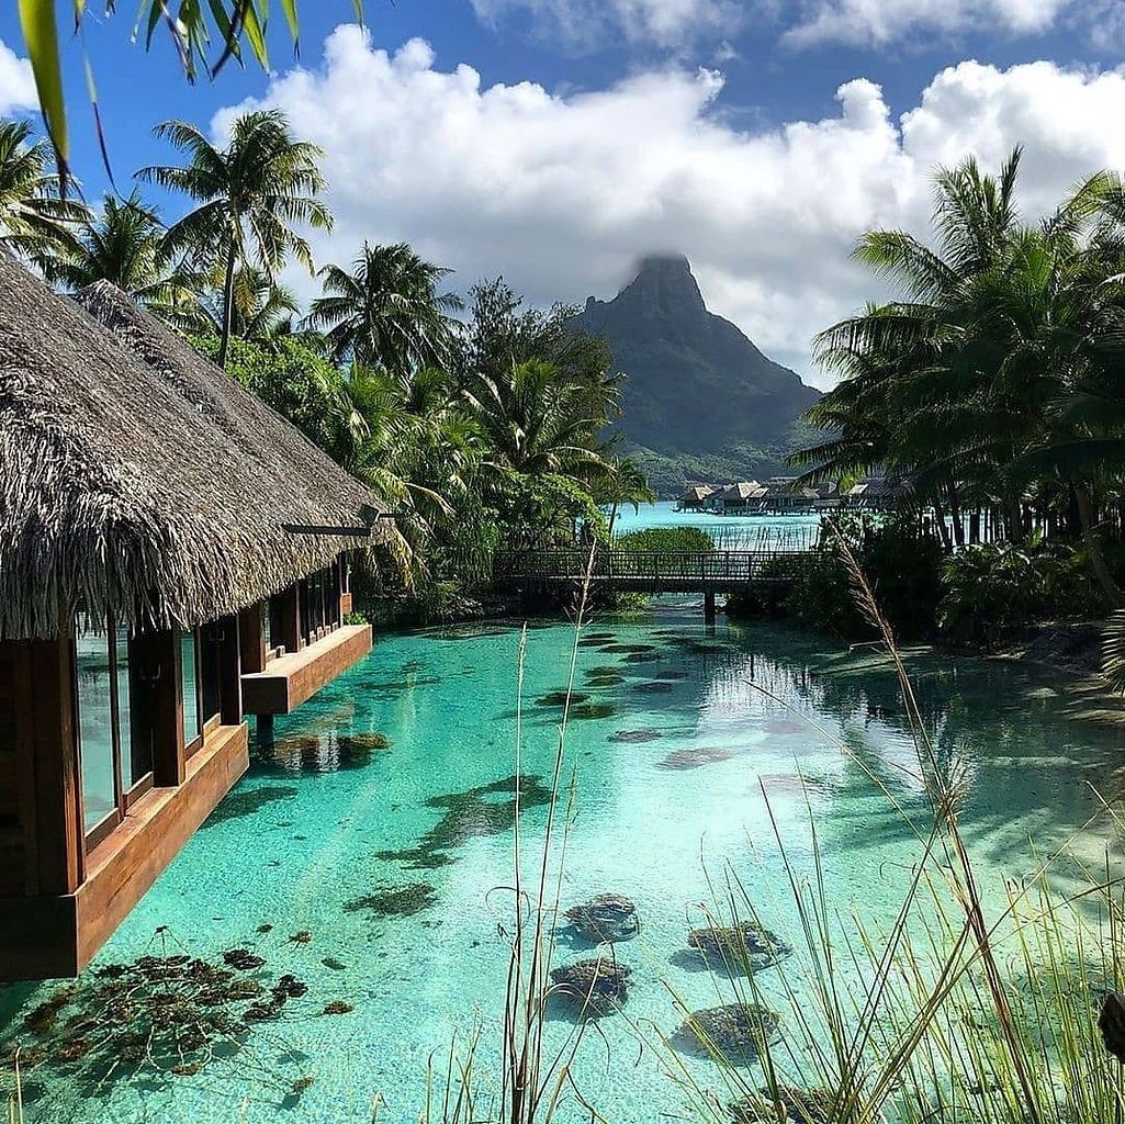
{"type": "Polygon", "coordinates": [[[0,245],[42,262],[73,245],[86,206],[62,198],[51,146],[26,122],[0,120],[0,245]]]}

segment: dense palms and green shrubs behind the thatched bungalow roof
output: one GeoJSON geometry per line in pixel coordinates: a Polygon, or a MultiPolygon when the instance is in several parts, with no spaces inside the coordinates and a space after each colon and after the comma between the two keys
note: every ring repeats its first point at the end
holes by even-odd
{"type": "Polygon", "coordinates": [[[368,483],[408,559],[370,592],[444,611],[495,551],[604,537],[604,509],[648,497],[606,440],[620,376],[574,309],[526,308],[500,279],[466,308],[449,270],[405,243],[317,269],[321,153],[277,110],[243,114],[219,143],[179,120],[156,135],[180,162],[136,178],[187,198],[169,224],[140,190],[97,208],[63,198],[45,142],[0,123],[0,241],[63,290],[114,284],[368,483]],[[292,266],[321,284],[305,309],[281,284],[292,266]]]}

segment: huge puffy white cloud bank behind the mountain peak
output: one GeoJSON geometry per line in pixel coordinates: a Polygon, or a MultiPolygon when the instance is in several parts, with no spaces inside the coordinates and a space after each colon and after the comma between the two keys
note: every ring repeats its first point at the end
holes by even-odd
{"type": "Polygon", "coordinates": [[[549,304],[612,296],[640,255],[680,251],[716,312],[807,377],[811,336],[878,294],[849,260],[855,240],[925,233],[936,164],[970,152],[997,164],[1024,143],[1028,215],[1083,173],[1125,167],[1114,72],[965,62],[898,119],[856,79],[831,115],[757,131],[717,110],[721,91],[718,72],[680,68],[586,93],[486,87],[421,41],[392,54],[342,27],[323,64],[278,77],[268,101],[327,154],[336,227],[315,235],[320,260],[406,240],[462,288],[503,273],[549,304]]]}

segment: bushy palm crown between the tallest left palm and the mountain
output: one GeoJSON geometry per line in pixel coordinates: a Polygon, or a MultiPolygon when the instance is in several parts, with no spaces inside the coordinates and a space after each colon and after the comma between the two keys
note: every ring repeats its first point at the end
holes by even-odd
{"type": "Polygon", "coordinates": [[[321,270],[324,295],[308,323],[323,329],[340,361],[381,366],[398,377],[417,367],[447,367],[457,339],[449,315],[458,297],[438,291],[450,271],[423,261],[405,242],[370,245],[352,262],[321,270]]]}

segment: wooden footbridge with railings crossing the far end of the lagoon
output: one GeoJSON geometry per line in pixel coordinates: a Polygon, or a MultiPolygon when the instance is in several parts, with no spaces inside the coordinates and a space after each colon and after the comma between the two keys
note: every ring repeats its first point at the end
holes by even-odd
{"type": "Polygon", "coordinates": [[[717,593],[735,593],[762,583],[789,585],[808,557],[800,550],[598,550],[591,568],[588,550],[524,550],[497,555],[493,578],[498,588],[549,592],[580,586],[590,569],[595,587],[702,593],[710,620],[717,593]]]}

